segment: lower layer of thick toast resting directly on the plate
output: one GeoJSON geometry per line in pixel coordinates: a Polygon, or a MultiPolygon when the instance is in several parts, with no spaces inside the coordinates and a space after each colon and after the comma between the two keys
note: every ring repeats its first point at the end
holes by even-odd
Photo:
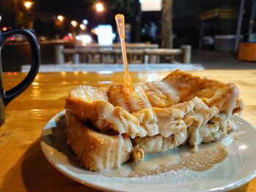
{"type": "MultiPolygon", "coordinates": [[[[70,145],[81,164],[89,170],[99,171],[113,169],[118,161],[118,136],[99,133],[89,122],[83,122],[69,111],[67,118],[67,144],[70,145]]],[[[134,161],[143,160],[144,153],[165,152],[179,145],[195,146],[201,142],[213,142],[221,139],[233,130],[232,122],[228,120],[227,127],[223,127],[214,119],[197,129],[195,126],[185,128],[172,134],[170,137],[162,137],[158,134],[154,137],[123,137],[124,145],[121,149],[121,164],[133,158],[134,161]],[[197,131],[197,134],[192,132],[197,131]],[[199,138],[196,138],[199,137],[199,138]]]]}

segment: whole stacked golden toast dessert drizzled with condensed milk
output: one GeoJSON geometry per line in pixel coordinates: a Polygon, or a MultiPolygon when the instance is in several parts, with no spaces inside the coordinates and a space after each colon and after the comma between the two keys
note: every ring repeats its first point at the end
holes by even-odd
{"type": "Polygon", "coordinates": [[[176,70],[159,82],[108,90],[80,85],[66,99],[68,144],[86,169],[119,168],[144,153],[214,142],[233,131],[243,110],[233,83],[176,70]]]}

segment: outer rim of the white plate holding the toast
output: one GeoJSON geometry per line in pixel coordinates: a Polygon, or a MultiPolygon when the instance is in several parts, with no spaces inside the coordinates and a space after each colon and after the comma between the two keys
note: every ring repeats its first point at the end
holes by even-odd
{"type": "MultiPolygon", "coordinates": [[[[48,123],[51,123],[51,122],[55,121],[56,118],[58,118],[61,115],[65,115],[65,110],[62,110],[61,112],[56,113],[56,115],[54,115],[52,118],[50,118],[50,120],[48,120],[48,122],[45,123],[45,126],[42,128],[42,131],[45,130],[45,127],[48,126],[48,123]]],[[[246,121],[246,123],[249,123],[247,120],[245,120],[244,118],[241,118],[238,115],[234,115],[234,116],[236,116],[236,118],[239,118],[241,120],[246,121]]],[[[253,126],[252,123],[249,123],[249,125],[252,126],[253,128],[255,128],[255,126],[253,126]]],[[[256,131],[256,128],[255,128],[255,131],[256,131]]],[[[119,190],[116,190],[116,189],[113,189],[113,188],[110,188],[110,187],[106,187],[106,186],[103,187],[103,186],[97,185],[95,183],[91,183],[91,182],[88,182],[88,181],[81,180],[78,177],[75,177],[72,174],[69,174],[69,173],[65,172],[59,166],[54,164],[53,161],[51,161],[51,158],[45,152],[45,147],[42,146],[42,142],[43,141],[42,141],[42,132],[41,132],[41,134],[40,134],[40,147],[41,147],[42,153],[45,155],[45,158],[50,162],[50,164],[55,169],[57,169],[59,172],[64,174],[66,177],[69,177],[70,179],[75,180],[75,182],[78,182],[82,185],[86,185],[86,186],[89,186],[89,187],[97,189],[97,190],[101,190],[101,191],[119,191],[119,190]]],[[[102,176],[102,175],[99,175],[99,176],[102,176]]],[[[104,177],[104,176],[102,176],[102,177],[104,177]]],[[[251,174],[249,174],[247,177],[244,177],[241,180],[236,181],[236,183],[230,183],[229,185],[223,185],[223,186],[220,186],[220,187],[217,187],[217,188],[211,188],[211,189],[208,189],[206,191],[229,191],[229,190],[233,190],[235,188],[241,187],[241,185],[244,185],[244,184],[248,183],[250,180],[254,179],[255,177],[256,177],[256,166],[255,166],[255,170],[253,170],[251,174]]]]}

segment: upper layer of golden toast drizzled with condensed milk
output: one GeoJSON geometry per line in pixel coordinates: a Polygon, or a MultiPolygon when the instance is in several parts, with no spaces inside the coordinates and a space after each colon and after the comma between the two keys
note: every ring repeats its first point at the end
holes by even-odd
{"type": "Polygon", "coordinates": [[[106,92],[88,85],[78,86],[70,91],[65,109],[81,118],[89,118],[102,131],[113,129],[134,138],[157,134],[169,137],[160,129],[172,129],[170,124],[202,125],[219,113],[224,113],[228,119],[244,108],[236,85],[178,70],[160,82],[138,83],[133,89],[134,92],[129,93],[123,85],[113,85],[106,92]],[[148,126],[146,123],[151,121],[154,125],[148,126]],[[152,131],[156,128],[158,130],[152,131]]]}

